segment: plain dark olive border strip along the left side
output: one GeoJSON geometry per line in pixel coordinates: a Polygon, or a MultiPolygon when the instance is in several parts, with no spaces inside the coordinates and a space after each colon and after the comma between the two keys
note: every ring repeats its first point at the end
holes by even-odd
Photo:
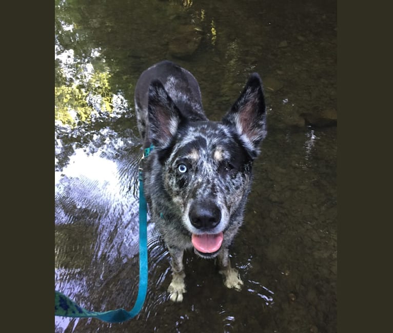
{"type": "Polygon", "coordinates": [[[54,6],[7,3],[3,16],[4,319],[9,331],[53,332],[54,6]]]}

